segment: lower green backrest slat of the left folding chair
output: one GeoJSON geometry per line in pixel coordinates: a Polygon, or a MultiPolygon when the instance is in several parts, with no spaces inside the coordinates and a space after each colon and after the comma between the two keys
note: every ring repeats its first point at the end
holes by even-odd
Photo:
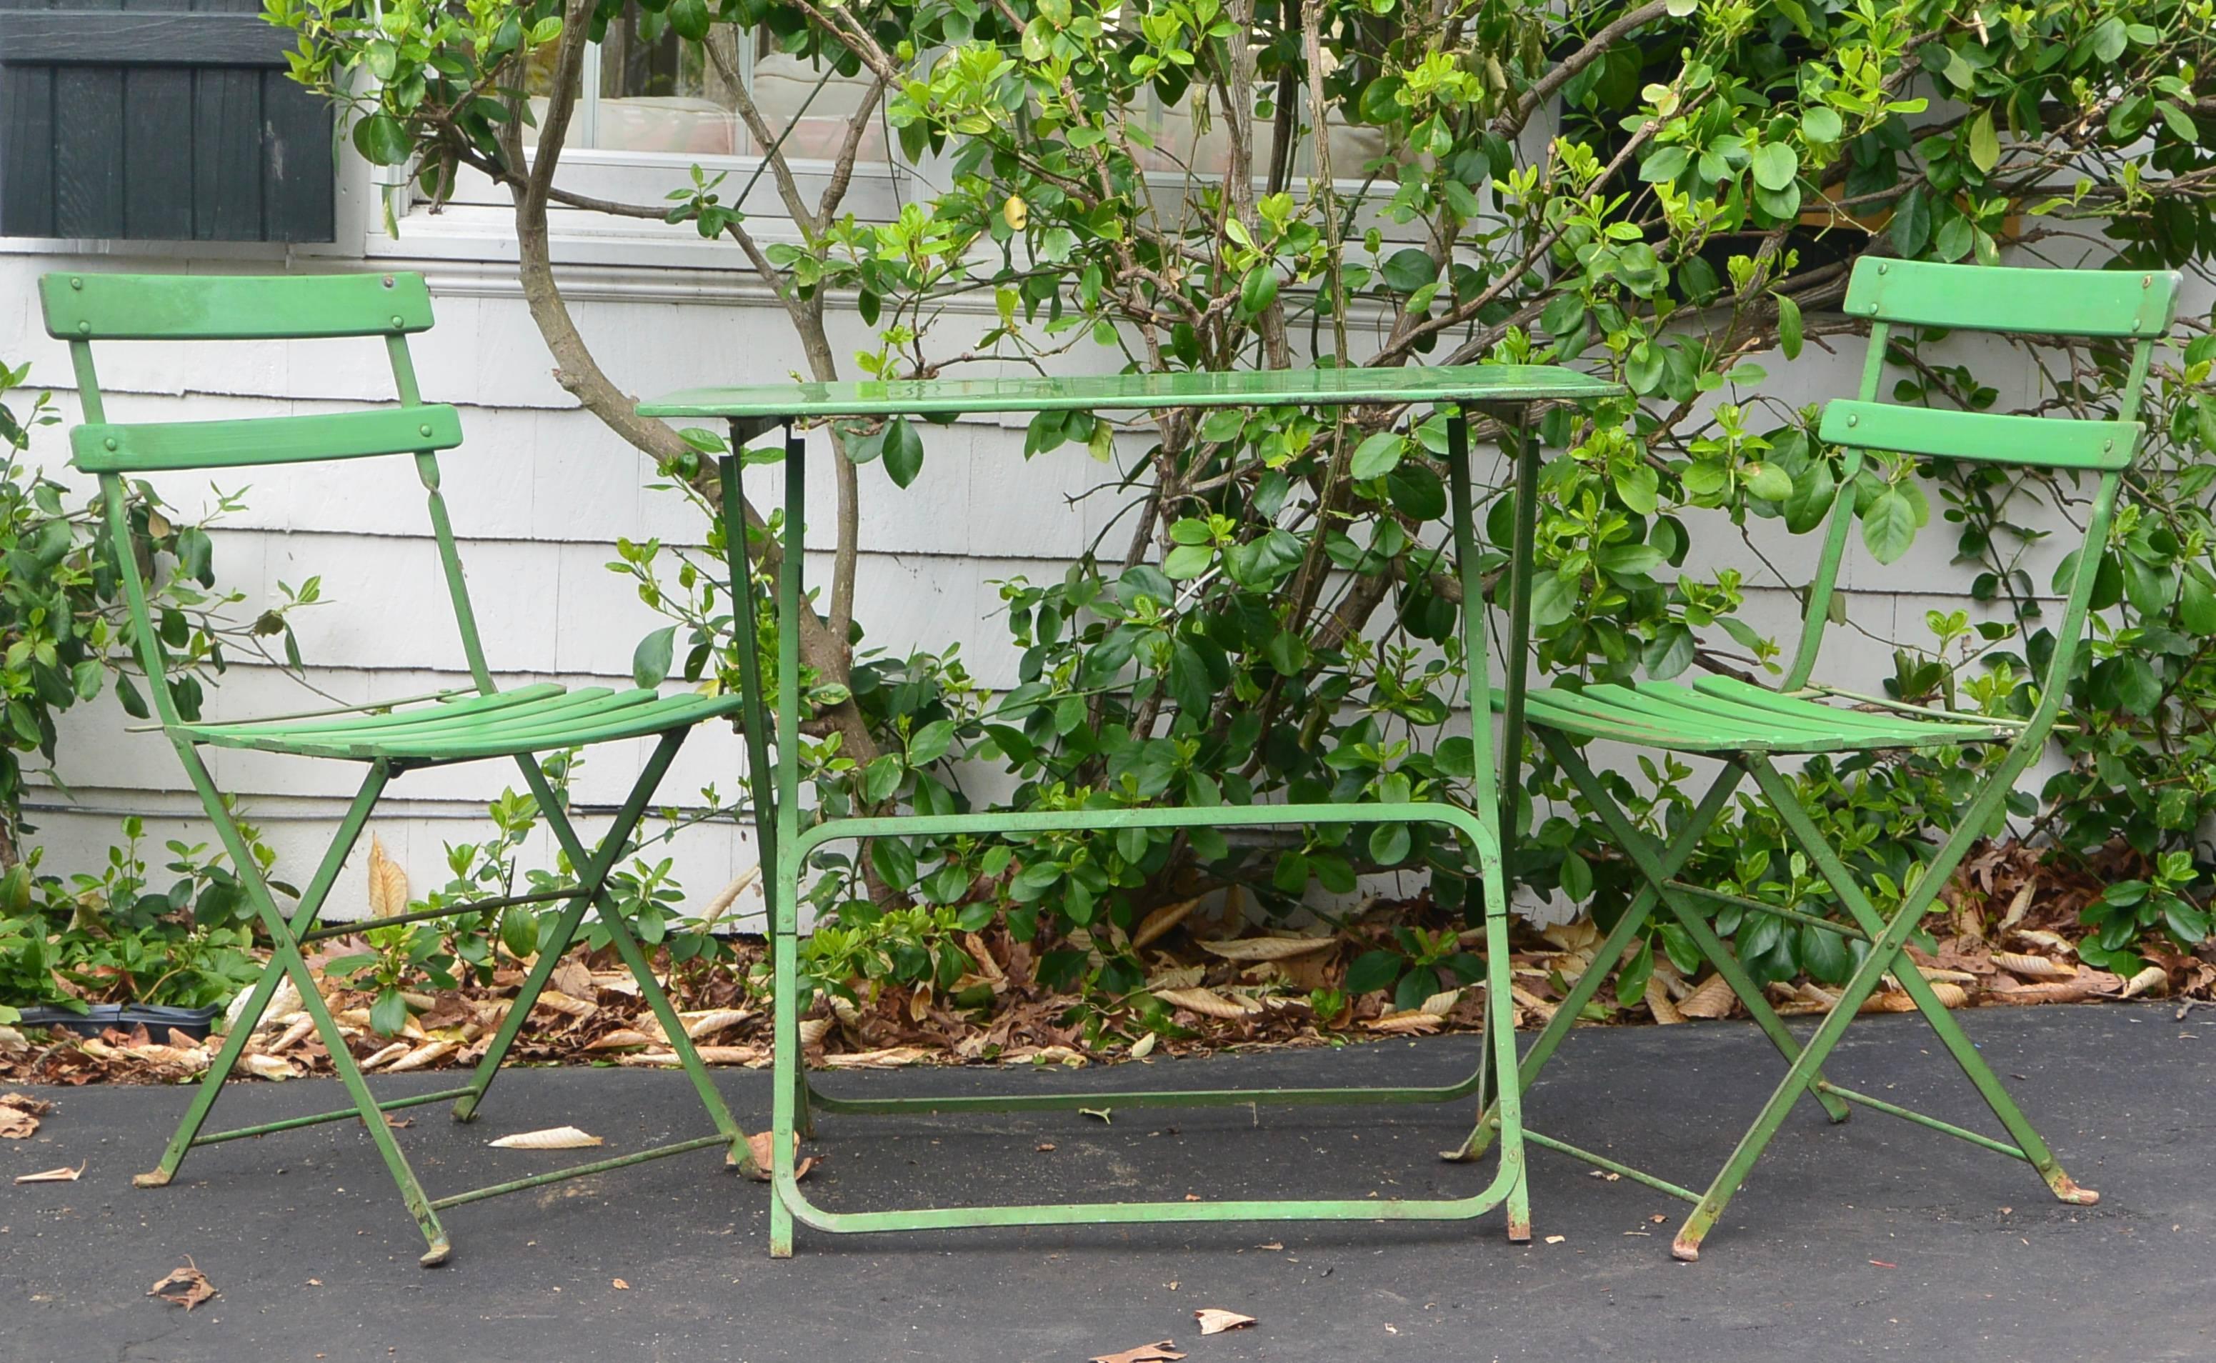
{"type": "Polygon", "coordinates": [[[443,403],[317,417],[95,423],[69,432],[71,463],[93,474],[419,454],[459,443],[461,412],[443,403]]]}

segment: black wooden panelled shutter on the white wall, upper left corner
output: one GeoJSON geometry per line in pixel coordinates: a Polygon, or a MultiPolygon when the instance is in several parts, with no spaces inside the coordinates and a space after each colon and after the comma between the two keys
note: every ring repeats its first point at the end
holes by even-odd
{"type": "Polygon", "coordinates": [[[330,109],[259,0],[0,0],[0,237],[330,242],[330,109]]]}

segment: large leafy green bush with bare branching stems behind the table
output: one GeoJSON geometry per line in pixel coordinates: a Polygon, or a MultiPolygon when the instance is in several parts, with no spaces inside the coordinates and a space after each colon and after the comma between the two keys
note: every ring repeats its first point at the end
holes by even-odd
{"type": "MultiPolygon", "coordinates": [[[[1779,640],[1746,614],[1748,581],[1691,567],[1695,527],[1806,534],[1848,499],[1879,563],[1899,561],[1932,512],[1952,530],[1981,609],[1932,616],[1897,649],[1888,691],[1992,714],[2030,707],[2052,649],[2025,567],[2083,490],[2068,474],[1877,459],[1841,488],[1813,410],[1771,397],[1771,368],[1859,330],[1835,306],[1864,255],[2017,259],[2205,275],[2216,215],[2216,7],[2209,0],[1983,4],[1946,0],[780,0],[645,2],[649,29],[700,42],[720,24],[767,27],[782,51],[860,75],[851,137],[809,199],[782,140],[762,175],[791,233],[758,237],[720,175],[674,180],[665,204],[567,195],[554,177],[567,84],[620,7],[587,24],[554,0],[388,4],[370,20],[326,0],[273,0],[299,31],[295,75],[348,104],[355,146],[417,164],[439,195],[456,168],[516,206],[525,297],[563,381],[649,452],[714,519],[702,454],[714,432],[636,419],[561,310],[547,204],[694,222],[733,242],[791,319],[815,379],[842,363],[831,297],[875,330],[851,357],[873,377],[931,375],[988,357],[1048,366],[1081,348],[1139,370],[1580,363],[1633,397],[1553,410],[1533,590],[1542,680],[1669,678],[1689,669],[1782,672],[1779,640]],[[552,73],[538,157],[521,129],[525,71],[552,73]],[[368,71],[377,82],[355,82],[368,71]],[[1225,129],[1221,164],[1181,164],[1155,111],[1225,129]],[[933,188],[893,222],[842,213],[855,146],[882,117],[902,153],[931,153],[933,188]],[[1536,131],[1558,117],[1551,137],[1536,131]],[[1168,171],[1163,171],[1168,166],[1168,171]],[[968,328],[957,295],[991,297],[968,328]],[[1755,357],[1766,357],[1757,361],[1755,357]]],[[[740,91],[740,117],[760,120],[740,91]]],[[[758,131],[758,140],[771,144],[758,131]]],[[[1904,335],[1888,375],[1904,401],[1994,408],[1981,375],[2037,377],[2023,410],[2112,412],[2121,348],[2085,344],[1955,357],[1904,335]]],[[[2216,341],[2189,321],[2156,361],[2141,419],[2150,445],[2103,563],[2096,640],[2070,678],[2070,771],[2010,813],[2019,836],[2083,858],[2112,840],[2147,862],[2147,891],[2103,900],[2090,960],[2132,962],[2143,933],[2205,926],[2192,858],[2216,802],[2207,638],[2216,627],[2209,454],[2216,341]],[[2156,889],[2161,887],[2161,889],[2156,889]],[[2172,911],[2172,902],[2185,906],[2172,911]],[[2158,906],[2158,911],[2147,909],[2158,906]]],[[[833,432],[838,547],[802,621],[807,776],[831,813],[966,809],[966,762],[1017,780],[1022,809],[1332,798],[1467,800],[1469,749],[1458,578],[1438,547],[1447,510],[1443,421],[1389,408],[1166,414],[1130,428],[1044,414],[1026,454],[1075,445],[1128,472],[1121,550],[1095,545],[1055,583],[1004,583],[1019,683],[988,696],[960,656],[855,652],[860,512],[853,463],[909,485],[926,432],[906,421],[833,432]]],[[[776,459],[758,452],[753,459],[776,459]]],[[[1483,570],[1507,558],[1507,492],[1491,494],[1483,570]]],[[[776,516],[747,530],[771,556],[776,516]]],[[[620,572],[674,627],[638,654],[640,680],[736,685],[731,583],[709,554],[625,545],[620,572]],[[683,649],[678,634],[685,636],[683,649]]],[[[1813,550],[1810,550],[1813,554],[1813,550]]],[[[1786,576],[1797,574],[1786,565],[1786,576]]],[[[740,603],[765,618],[756,601],[740,603]]],[[[1813,762],[1804,798],[1859,869],[1897,895],[1928,855],[1981,754],[1813,762]]],[[[1649,762],[1638,811],[1655,827],[1689,802],[1686,771],[1649,762]]],[[[1518,791],[1538,853],[1531,889],[1622,904],[1629,867],[1545,762],[1518,791]],[[1536,816],[1531,811],[1538,811],[1536,816]]],[[[1994,827],[1992,833],[2003,833],[1994,827]]],[[[1294,842],[1124,831],[878,840],[824,853],[809,893],[840,924],[911,906],[955,922],[1006,909],[1073,982],[1139,977],[1128,933],[1170,895],[1241,884],[1274,911],[1312,887],[1347,893],[1367,871],[1418,871],[1449,911],[1474,911],[1458,849],[1418,827],[1323,827],[1294,842]]],[[[1744,809],[1689,871],[1746,895],[1830,913],[1828,891],[1744,809]]],[[[1720,922],[1766,977],[1839,977],[1853,951],[1773,915],[1720,922]]],[[[924,933],[929,935],[929,933],[924,933]]],[[[1405,944],[1407,946],[1407,944],[1405,944]]],[[[1682,949],[1669,931],[1644,946],[1682,949]]],[[[924,953],[929,957],[929,953],[924,953]]],[[[1356,984],[1418,988],[1427,946],[1356,984]]],[[[913,960],[911,971],[940,971],[913,960]]],[[[864,969],[866,973],[866,969],[864,969]]]]}

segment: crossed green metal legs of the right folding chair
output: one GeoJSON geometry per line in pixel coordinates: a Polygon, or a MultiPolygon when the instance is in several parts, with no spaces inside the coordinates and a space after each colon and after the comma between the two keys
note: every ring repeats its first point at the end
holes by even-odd
{"type": "MultiPolygon", "coordinates": [[[[1901,900],[1901,906],[1888,920],[1877,911],[1875,904],[1870,904],[1870,898],[1861,891],[1853,871],[1846,869],[1837,851],[1833,851],[1833,847],[1824,840],[1824,833],[1808,818],[1806,809],[1802,809],[1793,791],[1793,785],[1777,771],[1775,765],[1771,765],[1768,758],[1757,754],[1744,754],[1731,765],[1726,765],[1726,769],[1715,778],[1715,785],[1709,787],[1706,798],[1693,811],[1693,818],[1678,829],[1678,833],[1669,840],[1669,847],[1662,847],[1631,822],[1624,809],[1609,796],[1607,789],[1602,789],[1600,778],[1593,776],[1593,769],[1584,762],[1582,754],[1567,738],[1549,729],[1538,729],[1538,736],[1542,742],[1547,742],[1553,758],[1578,785],[1580,793],[1584,793],[1584,798],[1593,805],[1593,811],[1607,824],[1609,836],[1618,840],[1618,844],[1631,858],[1633,867],[1638,867],[1646,884],[1640,889],[1638,898],[1633,898],[1633,902],[1624,909],[1624,915],[1618,920],[1615,929],[1600,944],[1600,949],[1593,955],[1591,969],[1587,969],[1584,975],[1578,977],[1578,984],[1571,988],[1569,997],[1562,1000],[1562,1006],[1547,1024],[1547,1031],[1525,1053],[1516,1075],[1518,1086],[1529,1088],[1531,1082],[1538,1077],[1538,1073],[1547,1066],[1547,1062],[1553,1057],[1556,1046],[1560,1046],[1562,1037],[1567,1037],[1569,1028],[1576,1024],[1578,1013],[1584,1008],[1587,1002],[1591,1002],[1600,984],[1609,975],[1613,975],[1613,966],[1622,957],[1624,946],[1629,946],[1633,935],[1646,924],[1658,902],[1666,906],[1671,915],[1686,929],[1700,953],[1715,964],[1717,973],[1731,984],[1731,991],[1740,997],[1742,1004],[1746,1004],[1746,1011],[1755,1019],[1755,1024],[1786,1057],[1788,1068],[1786,1077],[1777,1084],[1777,1090],[1771,1093],[1771,1099],[1764,1104],[1760,1117],[1755,1117],[1755,1124],[1746,1130],[1744,1137],[1740,1137],[1740,1144],[1731,1152],[1731,1159],[1709,1183],[1706,1192],[1693,1192],[1689,1188],[1680,1188],[1678,1183],[1669,1183],[1644,1170],[1593,1155],[1591,1150],[1580,1150],[1578,1146],[1540,1135],[1531,1128],[1525,1128],[1525,1139],[1529,1139],[1533,1146],[1576,1155],[1578,1159],[1631,1177],[1640,1183],[1646,1183],[1649,1188],[1669,1192],[1671,1197],[1678,1197],[1682,1201],[1691,1201],[1693,1212],[1684,1219],[1684,1226],[1680,1226],[1678,1237],[1671,1243],[1671,1252],[1678,1259],[1700,1259],[1702,1239],[1715,1226],[1715,1219],[1722,1217],[1724,1206],[1740,1190],[1740,1183],[1746,1181],[1746,1175],[1762,1157],[1762,1150],[1768,1146],[1771,1137],[1777,1135],[1777,1128],[1784,1124],[1786,1115],[1793,1110],[1793,1104],[1804,1093],[1813,1095],[1824,1106],[1824,1110],[1830,1115],[1833,1121],[1846,1119],[1848,1115],[1846,1104],[1850,1101],[1861,1104],[1866,1108],[1875,1108],[1879,1113],[1915,1121],[1917,1126],[1928,1126],[1932,1130],[1970,1141],[1972,1146],[1979,1146],[1983,1150],[1994,1150],[1999,1155],[2021,1159],[2030,1164],[2034,1170],[2039,1170],[2039,1177],[2045,1179],[2048,1188],[2061,1201],[2076,1206],[2092,1206],[2101,1199],[2099,1192],[2090,1188],[2079,1188],[2070,1179],[2070,1175],[2063,1172],[2061,1164],[2056,1164],[2054,1159],[2054,1152],[2032,1128],[2030,1119],[2023,1117],[2023,1110],[2014,1104],[2008,1090],[2001,1086],[1999,1075],[1992,1073],[1992,1066],[1988,1066],[1986,1059],[1977,1053],[1977,1046],[1970,1042],[1968,1035],[1963,1035],[1961,1024],[1955,1022],[1955,1015],[1946,1011],[1946,1004],[1941,1004],[1939,997],[1932,993],[1930,984],[1923,980],[1923,973],[1917,971],[1915,962],[1910,962],[1906,955],[1908,937],[1915,933],[1917,924],[1923,920],[1923,913],[1937,900],[1939,889],[1946,884],[1948,875],[1961,862],[1963,853],[1968,853],[1970,844],[1977,840],[1979,827],[1983,827],[1983,818],[1979,818],[1977,811],[1988,805],[1990,791],[2005,787],[2005,782],[2012,778],[2010,771],[1994,773],[1988,793],[1979,796],[1979,800],[1972,802],[1961,824],[1955,829],[1948,842],[1939,849],[1939,855],[1932,858],[1930,867],[1923,871],[1923,878],[1901,900]],[[1802,847],[1802,851],[1808,853],[1810,864],[1815,864],[1817,871],[1824,875],[1824,880],[1833,887],[1833,891],[1839,895],[1839,902],[1846,904],[1848,913],[1855,918],[1855,926],[1817,920],[1813,915],[1802,915],[1788,909],[1755,904],[1753,900],[1735,900],[1733,895],[1717,895],[1715,891],[1704,891],[1673,880],[1673,875],[1684,867],[1693,849],[1700,847],[1702,836],[1722,813],[1724,802],[1731,798],[1731,791],[1740,785],[1742,773],[1755,778],[1755,785],[1762,789],[1764,798],[1777,809],[1793,840],[1802,847]],[[1762,997],[1762,991],[1731,955],[1731,949],[1715,935],[1715,931],[1709,926],[1702,913],[1691,904],[1691,900],[1695,898],[1722,898],[1740,902],[1746,909],[1760,909],[1766,913],[1777,913],[1779,918],[1810,922],[1824,926],[1826,931],[1837,931],[1846,937],[1855,937],[1870,944],[1870,951],[1864,957],[1861,966],[1857,966],[1855,973],[1848,977],[1846,988],[1839,993],[1839,1000],[1826,1013],[1824,1022],[1817,1024],[1815,1035],[1808,1037],[1806,1046],[1795,1042],[1793,1033],[1786,1031],[1784,1022],[1762,997]],[[1955,1057],[1955,1064],[1961,1066],[1961,1073],[1986,1099],[1986,1104],[1992,1108],[1994,1117],[1999,1117],[2001,1126],[2008,1130],[2014,1144],[1997,1141],[1992,1137],[1955,1126],[1950,1121],[1939,1121],[1937,1117],[1928,1117],[1923,1113],[1912,1113],[1908,1108],[1870,1097],[1866,1093],[1844,1088],[1824,1077],[1822,1073],[1824,1059],[1839,1044],[1839,1037],[1846,1035],[1846,1028],[1855,1019],[1861,1004],[1870,997],[1870,993],[1877,991],[1877,986],[1884,982],[1888,973],[1895,980],[1899,980],[1901,988],[1915,1002],[1917,1011],[1926,1017],[1926,1022],[1930,1022],[1932,1031],[1939,1035],[1941,1046],[1946,1046],[1948,1055],[1955,1057]]],[[[1476,1157],[1485,1148],[1489,1133],[1491,1133],[1491,1113],[1487,1113],[1480,1119],[1478,1130],[1471,1133],[1469,1137],[1469,1144],[1456,1155],[1476,1157]]]]}

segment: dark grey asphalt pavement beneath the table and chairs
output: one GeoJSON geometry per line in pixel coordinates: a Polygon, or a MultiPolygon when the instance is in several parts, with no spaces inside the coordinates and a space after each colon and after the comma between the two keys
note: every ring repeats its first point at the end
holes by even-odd
{"type": "MultiPolygon", "coordinates": [[[[423,1270],[412,1221],[355,1124],[197,1150],[131,1188],[184,1106],[175,1088],[44,1088],[35,1137],[0,1141],[0,1363],[315,1361],[1086,1363],[1174,1341],[1250,1359],[2216,1359],[2216,1013],[2172,1004],[1961,1015],[2065,1168],[2103,1199],[2056,1203],[2021,1164],[1859,1110],[1802,1104],[1700,1263],[1669,1257],[1682,1203],[1533,1150],[1529,1246],[1474,1223],[1239,1223],[829,1237],[767,1254],[767,1190],[716,1150],[454,1208],[454,1257],[423,1270]],[[84,1164],[75,1183],[13,1186],[84,1164]],[[146,1294],[191,1259],[193,1312],[146,1294]],[[1254,1325],[1199,1336],[1194,1310],[1254,1325]]],[[[1146,1066],[827,1075],[840,1093],[1044,1086],[1440,1084],[1474,1037],[1146,1066]]],[[[1746,1024],[1580,1031],[1531,1124],[1695,1188],[1782,1066],[1746,1024]]],[[[1866,1017],[1828,1073],[1997,1130],[1919,1017],[1866,1017]]],[[[769,1075],[720,1073],[765,1119],[769,1075]]],[[[448,1088],[406,1075],[381,1093],[448,1088]]],[[[335,1082],[235,1084],[217,1124],[343,1104],[335,1082]]],[[[492,1150],[545,1126],[620,1155],[700,1135],[685,1079],[512,1070],[476,1124],[443,1106],[399,1133],[430,1186],[523,1177],[576,1152],[492,1150]]],[[[1443,1164],[1451,1108],[1217,1108],[1015,1117],[827,1117],[811,1195],[838,1210],[957,1201],[1451,1197],[1489,1166],[1443,1164]],[[1044,1148],[1053,1146],[1053,1148],[1044,1148]]]]}

